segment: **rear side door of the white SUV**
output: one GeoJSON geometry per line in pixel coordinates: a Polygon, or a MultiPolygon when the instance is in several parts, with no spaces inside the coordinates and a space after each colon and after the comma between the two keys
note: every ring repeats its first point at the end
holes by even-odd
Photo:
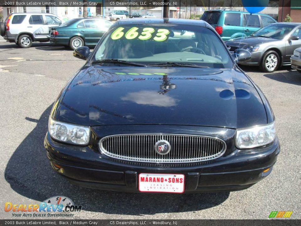
{"type": "Polygon", "coordinates": [[[45,21],[43,15],[31,15],[26,30],[31,32],[35,39],[43,39],[49,33],[48,27],[44,25],[45,21]]]}

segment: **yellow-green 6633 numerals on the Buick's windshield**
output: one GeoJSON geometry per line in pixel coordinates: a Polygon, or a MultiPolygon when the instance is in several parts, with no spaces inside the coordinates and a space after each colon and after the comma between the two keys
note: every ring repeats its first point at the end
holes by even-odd
{"type": "MultiPolygon", "coordinates": [[[[111,35],[112,40],[118,40],[122,37],[128,40],[139,39],[139,40],[148,40],[153,36],[155,32],[154,28],[143,28],[141,32],[139,32],[138,27],[132,27],[128,31],[123,31],[123,27],[117,28],[111,35]],[[125,33],[125,35],[124,35],[125,33]],[[140,34],[140,35],[139,35],[140,34]],[[139,35],[139,36],[138,36],[139,35]]],[[[167,35],[170,34],[170,31],[167,29],[158,29],[153,40],[155,41],[165,41],[167,39],[167,35]]]]}

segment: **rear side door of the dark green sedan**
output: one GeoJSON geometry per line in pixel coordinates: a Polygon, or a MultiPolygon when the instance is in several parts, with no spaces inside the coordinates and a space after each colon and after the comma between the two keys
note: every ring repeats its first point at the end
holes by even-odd
{"type": "MultiPolygon", "coordinates": [[[[101,20],[99,19],[85,19],[83,21],[84,27],[79,28],[82,35],[85,37],[85,43],[87,45],[96,45],[100,38],[105,33],[105,30],[102,28],[99,28],[99,22],[101,20]]],[[[79,24],[78,24],[79,25],[79,24]]]]}

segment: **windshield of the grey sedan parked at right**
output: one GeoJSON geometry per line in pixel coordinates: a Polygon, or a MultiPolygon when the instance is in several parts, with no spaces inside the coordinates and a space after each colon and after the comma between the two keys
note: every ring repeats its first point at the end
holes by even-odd
{"type": "Polygon", "coordinates": [[[262,36],[273,39],[283,39],[295,26],[287,24],[271,24],[254,32],[252,36],[262,36]]]}

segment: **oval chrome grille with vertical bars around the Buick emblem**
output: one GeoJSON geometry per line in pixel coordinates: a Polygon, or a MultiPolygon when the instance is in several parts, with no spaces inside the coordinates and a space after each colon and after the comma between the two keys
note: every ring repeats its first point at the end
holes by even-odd
{"type": "Polygon", "coordinates": [[[226,143],[216,137],[175,134],[119,134],[103,137],[100,151],[107,156],[137,162],[191,163],[216,159],[224,154],[226,143]],[[171,151],[161,155],[155,143],[166,140],[171,151]]]}

